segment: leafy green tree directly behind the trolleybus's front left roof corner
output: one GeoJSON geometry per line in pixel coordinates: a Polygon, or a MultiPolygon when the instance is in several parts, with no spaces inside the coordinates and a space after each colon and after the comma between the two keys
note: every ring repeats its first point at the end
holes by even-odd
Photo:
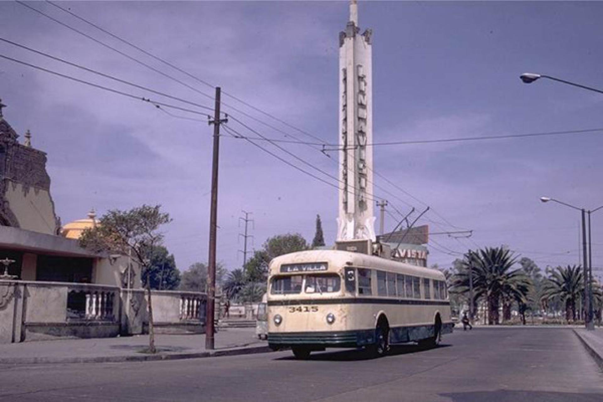
{"type": "Polygon", "coordinates": [[[273,258],[303,250],[308,250],[308,243],[301,234],[287,233],[269,237],[262,245],[262,249],[256,250],[253,257],[247,260],[244,266],[247,281],[266,281],[268,265],[273,258]]]}

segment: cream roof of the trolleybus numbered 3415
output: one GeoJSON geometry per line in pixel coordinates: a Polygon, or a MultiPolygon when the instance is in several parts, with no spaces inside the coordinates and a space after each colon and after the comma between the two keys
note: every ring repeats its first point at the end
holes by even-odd
{"type": "Polygon", "coordinates": [[[443,272],[434,268],[410,265],[382,257],[368,256],[367,254],[352,253],[339,250],[308,250],[297,253],[285,254],[276,257],[270,263],[268,274],[280,274],[279,268],[282,264],[301,264],[312,262],[326,262],[329,266],[343,268],[353,266],[360,268],[384,269],[386,271],[399,272],[402,274],[416,275],[420,277],[445,280],[443,272]]]}

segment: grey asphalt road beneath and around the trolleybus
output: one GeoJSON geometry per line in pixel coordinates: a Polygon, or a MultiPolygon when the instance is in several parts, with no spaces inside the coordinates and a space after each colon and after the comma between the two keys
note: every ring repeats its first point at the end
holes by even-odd
{"type": "Polygon", "coordinates": [[[336,350],[166,362],[0,367],[4,401],[603,401],[603,374],[571,330],[475,328],[441,347],[367,359],[336,350]]]}

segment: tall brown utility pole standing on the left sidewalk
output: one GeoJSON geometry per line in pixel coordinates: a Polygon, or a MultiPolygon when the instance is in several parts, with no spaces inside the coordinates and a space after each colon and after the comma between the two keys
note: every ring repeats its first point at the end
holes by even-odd
{"type": "Polygon", "coordinates": [[[212,157],[212,201],[209,209],[209,259],[207,261],[207,304],[205,315],[205,348],[213,350],[213,316],[216,297],[216,228],[218,227],[218,166],[220,146],[220,124],[228,119],[220,119],[220,87],[216,87],[216,104],[213,121],[213,157],[212,157]]]}

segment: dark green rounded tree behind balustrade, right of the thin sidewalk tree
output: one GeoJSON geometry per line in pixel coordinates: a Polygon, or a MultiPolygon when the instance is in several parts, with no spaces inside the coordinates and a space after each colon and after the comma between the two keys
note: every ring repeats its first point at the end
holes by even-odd
{"type": "Polygon", "coordinates": [[[143,278],[150,280],[151,289],[174,290],[180,284],[180,271],[176,268],[174,256],[168,254],[163,246],[150,247],[147,250],[149,265],[142,272],[143,278]]]}

